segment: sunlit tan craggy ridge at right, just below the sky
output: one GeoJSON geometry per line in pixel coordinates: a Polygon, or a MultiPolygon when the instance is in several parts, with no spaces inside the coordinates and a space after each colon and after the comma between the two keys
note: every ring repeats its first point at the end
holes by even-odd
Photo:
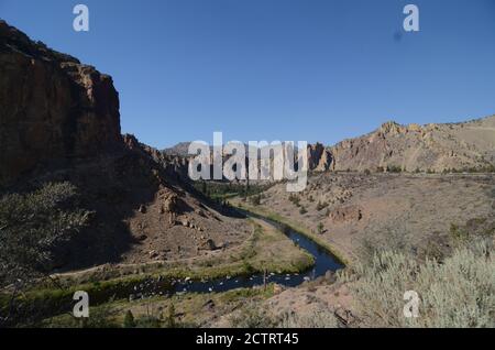
{"type": "MultiPolygon", "coordinates": [[[[189,157],[189,142],[164,154],[189,157]]],[[[308,168],[326,171],[443,172],[495,167],[495,116],[459,123],[402,125],[394,121],[332,146],[308,145],[308,168]]]]}

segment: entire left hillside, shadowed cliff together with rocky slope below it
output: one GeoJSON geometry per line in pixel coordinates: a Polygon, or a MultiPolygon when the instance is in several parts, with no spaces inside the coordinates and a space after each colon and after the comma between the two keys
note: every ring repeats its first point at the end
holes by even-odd
{"type": "Polygon", "coordinates": [[[110,76],[0,21],[0,198],[68,182],[92,212],[57,267],[191,258],[251,233],[184,181],[184,165],[120,130],[110,76]]]}

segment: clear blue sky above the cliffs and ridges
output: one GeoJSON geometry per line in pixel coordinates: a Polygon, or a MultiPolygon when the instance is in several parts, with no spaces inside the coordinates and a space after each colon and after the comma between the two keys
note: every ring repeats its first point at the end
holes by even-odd
{"type": "Polygon", "coordinates": [[[0,18],[112,75],[123,132],[156,147],[495,113],[494,0],[0,0],[0,18]],[[403,31],[407,3],[420,33],[403,31]]]}

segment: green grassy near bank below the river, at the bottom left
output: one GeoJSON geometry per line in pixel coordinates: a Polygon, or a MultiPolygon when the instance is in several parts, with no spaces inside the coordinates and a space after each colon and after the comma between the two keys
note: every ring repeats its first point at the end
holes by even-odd
{"type": "Polygon", "coordinates": [[[261,305],[278,292],[273,284],[266,288],[239,288],[222,293],[188,293],[167,298],[112,300],[90,307],[90,318],[80,324],[68,314],[45,318],[40,327],[55,328],[198,328],[211,327],[224,315],[249,304],[261,305]],[[133,321],[129,321],[132,315],[133,321]]]}

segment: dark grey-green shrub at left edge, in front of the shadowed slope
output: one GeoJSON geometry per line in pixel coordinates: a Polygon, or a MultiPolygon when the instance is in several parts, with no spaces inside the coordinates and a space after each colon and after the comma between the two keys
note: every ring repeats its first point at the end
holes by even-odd
{"type": "Polygon", "coordinates": [[[88,222],[69,183],[0,198],[0,284],[51,272],[54,251],[88,222]]]}

